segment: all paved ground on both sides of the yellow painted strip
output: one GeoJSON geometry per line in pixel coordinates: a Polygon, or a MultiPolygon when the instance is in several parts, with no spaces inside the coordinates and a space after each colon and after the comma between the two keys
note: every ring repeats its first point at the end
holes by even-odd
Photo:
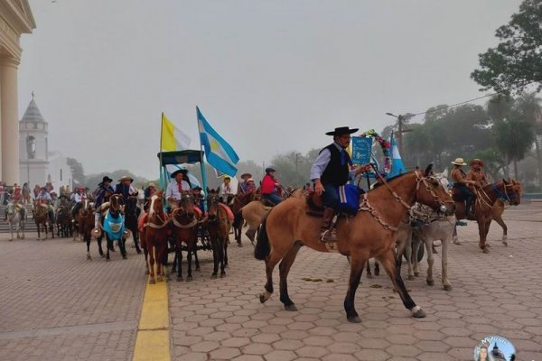
{"type": "MultiPolygon", "coordinates": [[[[427,312],[425,319],[410,318],[380,275],[363,277],[356,300],[362,323],[348,323],[342,301],[349,268],[340,255],[300,251],[290,275],[299,310],[287,312],[278,294],[259,303],[264,264],[253,258],[247,242],[242,248],[230,245],[225,279],[210,280],[210,253],[201,252],[202,271],[194,281],[169,284],[172,355],[177,360],[470,360],[482,337],[499,334],[514,343],[518,359],[540,360],[542,206],[521,206],[505,215],[509,246],[496,241],[500,229],[494,225],[490,255],[477,249],[474,225],[460,229],[463,245],[450,251],[453,291],[441,289],[439,267],[435,287],[424,278],[406,281],[427,312]]],[[[89,262],[85,246],[69,239],[8,242],[1,235],[0,360],[130,360],[145,275],[142,256],[130,247],[128,252],[127,261],[115,254],[110,263],[96,257],[89,262]]]]}

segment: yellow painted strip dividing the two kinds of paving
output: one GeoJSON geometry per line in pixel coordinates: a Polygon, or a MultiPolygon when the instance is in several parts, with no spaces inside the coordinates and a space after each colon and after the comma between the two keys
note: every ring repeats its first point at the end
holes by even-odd
{"type": "Polygon", "coordinates": [[[134,361],[170,361],[167,283],[145,287],[145,298],[135,338],[134,361]]]}

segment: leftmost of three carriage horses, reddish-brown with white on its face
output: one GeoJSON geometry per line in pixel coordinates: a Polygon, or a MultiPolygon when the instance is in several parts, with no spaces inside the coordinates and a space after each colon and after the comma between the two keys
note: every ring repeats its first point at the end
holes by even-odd
{"type": "Polygon", "coordinates": [[[145,264],[149,272],[149,283],[162,281],[162,274],[167,277],[167,230],[170,219],[164,212],[164,192],[157,191],[151,197],[149,213],[143,219],[142,240],[145,241],[145,264]],[[156,279],[154,280],[154,262],[156,262],[156,279]]]}

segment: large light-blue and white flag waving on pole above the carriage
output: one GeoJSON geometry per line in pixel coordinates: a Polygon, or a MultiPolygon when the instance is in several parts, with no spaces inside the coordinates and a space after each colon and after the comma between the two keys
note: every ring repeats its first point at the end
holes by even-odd
{"type": "Polygon", "coordinates": [[[239,162],[237,153],[207,122],[196,106],[198,113],[198,128],[200,129],[201,145],[205,149],[207,162],[217,171],[233,177],[237,173],[235,164],[239,162]]]}

